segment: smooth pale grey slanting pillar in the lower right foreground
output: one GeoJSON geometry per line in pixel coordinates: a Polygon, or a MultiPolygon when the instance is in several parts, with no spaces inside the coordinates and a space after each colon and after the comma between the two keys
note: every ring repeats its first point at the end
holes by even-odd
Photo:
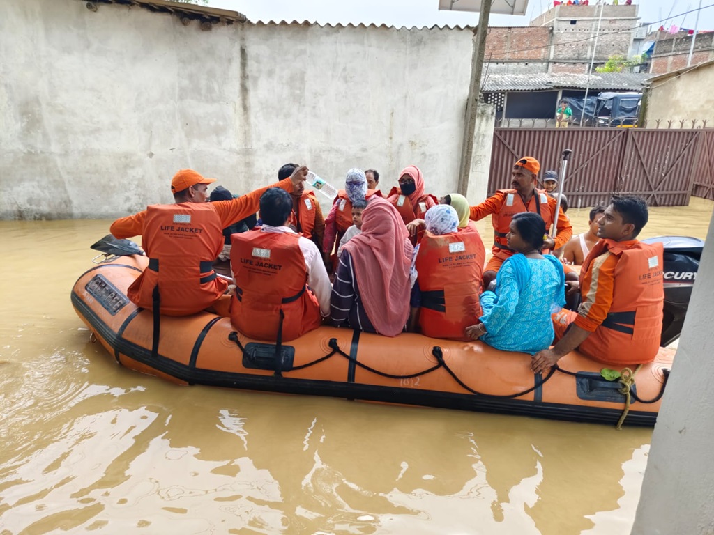
{"type": "Polygon", "coordinates": [[[714,533],[714,219],[662,408],[633,535],[714,533]]]}

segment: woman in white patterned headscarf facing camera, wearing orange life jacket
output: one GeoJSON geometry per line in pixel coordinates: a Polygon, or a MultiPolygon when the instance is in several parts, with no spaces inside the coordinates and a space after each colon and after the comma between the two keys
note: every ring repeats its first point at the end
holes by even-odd
{"type": "Polygon", "coordinates": [[[381,191],[370,190],[367,187],[367,177],[363,170],[353,168],[347,171],[345,189],[338,190],[330,213],[325,220],[325,238],[322,250],[325,264],[335,270],[337,254],[333,253],[340,240],[352,223],[352,203],[358,200],[369,200],[372,195],[382,196],[381,191]]]}

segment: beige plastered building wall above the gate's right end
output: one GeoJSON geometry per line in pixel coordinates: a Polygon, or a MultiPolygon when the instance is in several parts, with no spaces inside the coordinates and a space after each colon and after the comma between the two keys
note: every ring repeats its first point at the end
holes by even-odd
{"type": "Polygon", "coordinates": [[[643,118],[648,128],[655,128],[660,120],[660,128],[667,128],[668,121],[673,120],[671,128],[682,128],[679,121],[688,121],[684,128],[692,128],[691,121],[707,120],[707,127],[714,127],[714,93],[711,91],[714,83],[714,65],[702,66],[688,71],[681,76],[670,76],[652,81],[645,91],[643,100],[643,118]]]}

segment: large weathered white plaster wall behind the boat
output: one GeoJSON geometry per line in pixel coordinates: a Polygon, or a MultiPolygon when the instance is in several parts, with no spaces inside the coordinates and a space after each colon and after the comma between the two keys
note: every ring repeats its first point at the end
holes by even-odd
{"type": "Polygon", "coordinates": [[[414,164],[456,190],[471,31],[201,31],[98,5],[0,0],[0,218],[125,215],[186,167],[243,193],[289,161],[336,186],[377,168],[382,190],[414,164]]]}

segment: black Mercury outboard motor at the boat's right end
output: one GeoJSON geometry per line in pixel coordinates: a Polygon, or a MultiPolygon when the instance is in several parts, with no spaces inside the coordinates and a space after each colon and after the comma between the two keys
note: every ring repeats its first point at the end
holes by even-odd
{"type": "Polygon", "coordinates": [[[649,238],[644,243],[662,243],[664,253],[665,307],[660,346],[679,338],[702,257],[704,240],[689,236],[649,238]]]}

